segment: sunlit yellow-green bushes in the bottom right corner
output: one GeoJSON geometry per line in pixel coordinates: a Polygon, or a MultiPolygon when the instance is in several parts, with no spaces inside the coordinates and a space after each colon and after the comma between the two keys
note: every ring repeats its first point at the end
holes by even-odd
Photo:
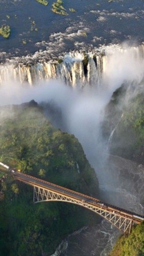
{"type": "Polygon", "coordinates": [[[118,239],[109,256],[143,256],[144,222],[132,228],[130,236],[118,239]]]}

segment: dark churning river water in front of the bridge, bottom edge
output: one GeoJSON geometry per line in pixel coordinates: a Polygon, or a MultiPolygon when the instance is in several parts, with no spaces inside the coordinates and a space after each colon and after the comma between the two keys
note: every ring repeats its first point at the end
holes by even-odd
{"type": "Polygon", "coordinates": [[[51,256],[107,256],[120,232],[103,220],[96,227],[84,227],[69,235],[51,256]]]}

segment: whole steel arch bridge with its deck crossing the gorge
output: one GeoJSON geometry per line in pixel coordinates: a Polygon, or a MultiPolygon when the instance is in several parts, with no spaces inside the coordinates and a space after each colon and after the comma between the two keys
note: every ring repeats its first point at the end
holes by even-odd
{"type": "MultiPolygon", "coordinates": [[[[1,162],[0,165],[4,166],[1,162]]],[[[88,195],[66,189],[65,187],[46,182],[45,180],[37,179],[27,174],[22,174],[15,169],[10,169],[7,165],[4,167],[13,174],[15,179],[33,186],[34,203],[62,201],[82,206],[99,214],[126,235],[130,234],[132,225],[140,224],[144,220],[144,216],[137,213],[107,204],[97,198],[89,197],[88,195]]]]}

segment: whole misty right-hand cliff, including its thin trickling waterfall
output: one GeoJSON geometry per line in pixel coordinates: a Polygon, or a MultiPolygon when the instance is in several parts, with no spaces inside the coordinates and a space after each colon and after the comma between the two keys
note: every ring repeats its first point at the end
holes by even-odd
{"type": "Polygon", "coordinates": [[[122,86],[105,110],[103,133],[109,152],[144,164],[144,93],[122,86]],[[110,135],[111,134],[111,135],[110,135]]]}

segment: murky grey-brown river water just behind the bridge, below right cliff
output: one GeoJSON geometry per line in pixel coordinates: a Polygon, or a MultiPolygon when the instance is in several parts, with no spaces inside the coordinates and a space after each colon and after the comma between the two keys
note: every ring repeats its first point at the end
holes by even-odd
{"type": "Polygon", "coordinates": [[[105,176],[105,179],[101,179],[100,182],[104,199],[124,209],[144,214],[143,165],[119,156],[109,155],[107,164],[101,171],[105,176]]]}

